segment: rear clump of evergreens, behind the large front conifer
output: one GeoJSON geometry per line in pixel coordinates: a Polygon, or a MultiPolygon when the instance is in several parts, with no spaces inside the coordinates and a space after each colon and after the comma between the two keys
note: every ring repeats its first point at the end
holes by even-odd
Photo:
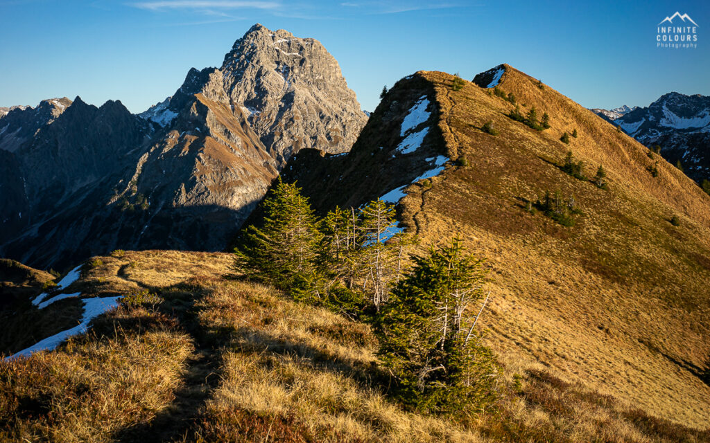
{"type": "Polygon", "coordinates": [[[350,316],[387,302],[416,241],[396,232],[394,206],[381,200],[317,218],[300,189],[279,179],[263,206],[263,225],[246,228],[235,249],[236,271],[350,316]]]}

